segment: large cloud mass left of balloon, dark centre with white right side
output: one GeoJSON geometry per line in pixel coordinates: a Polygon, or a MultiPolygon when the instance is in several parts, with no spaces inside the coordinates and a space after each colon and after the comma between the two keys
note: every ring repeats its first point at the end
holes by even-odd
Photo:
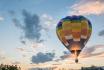
{"type": "Polygon", "coordinates": [[[36,43],[43,42],[42,31],[47,32],[55,27],[55,20],[48,14],[38,16],[37,14],[29,13],[27,10],[22,10],[23,19],[21,20],[16,16],[15,11],[8,11],[8,13],[12,16],[14,25],[23,31],[20,36],[20,42],[24,45],[27,40],[36,43]]]}

